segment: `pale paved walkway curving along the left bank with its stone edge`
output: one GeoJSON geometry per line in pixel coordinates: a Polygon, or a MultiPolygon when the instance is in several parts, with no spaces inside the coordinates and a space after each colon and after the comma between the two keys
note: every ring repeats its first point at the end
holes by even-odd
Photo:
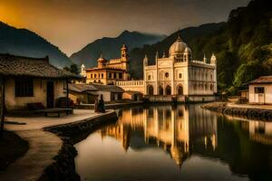
{"type": "MultiPolygon", "coordinates": [[[[6,118],[8,121],[25,123],[24,125],[7,124],[5,129],[14,131],[20,138],[26,140],[29,149],[23,157],[19,157],[7,167],[5,172],[0,172],[0,180],[79,180],[73,163],[73,158],[76,156],[73,144],[67,144],[64,137],[58,137],[53,133],[54,131],[46,131],[47,129],[44,128],[62,125],[61,128],[71,130],[73,127],[76,128],[76,125],[81,125],[77,133],[84,132],[86,129],[95,128],[97,124],[92,124],[92,121],[110,121],[100,119],[109,114],[117,118],[114,110],[103,114],[95,113],[93,110],[74,110],[73,115],[63,115],[61,118],[6,118]],[[55,177],[51,179],[48,174],[55,177]],[[63,179],[67,175],[69,177],[63,179]]],[[[72,129],[72,132],[75,132],[75,129],[72,129]]]]}

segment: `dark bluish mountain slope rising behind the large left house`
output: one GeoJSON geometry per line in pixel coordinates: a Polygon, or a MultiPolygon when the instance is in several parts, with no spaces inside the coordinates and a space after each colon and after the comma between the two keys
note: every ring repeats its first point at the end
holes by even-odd
{"type": "Polygon", "coordinates": [[[50,62],[59,68],[73,63],[58,47],[38,34],[2,22],[0,22],[0,52],[29,57],[48,55],[50,62]]]}

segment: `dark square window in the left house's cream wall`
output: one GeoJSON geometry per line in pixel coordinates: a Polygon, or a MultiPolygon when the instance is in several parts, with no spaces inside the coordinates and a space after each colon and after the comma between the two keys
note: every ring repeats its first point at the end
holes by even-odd
{"type": "Polygon", "coordinates": [[[33,97],[33,79],[15,80],[15,97],[33,97]]]}

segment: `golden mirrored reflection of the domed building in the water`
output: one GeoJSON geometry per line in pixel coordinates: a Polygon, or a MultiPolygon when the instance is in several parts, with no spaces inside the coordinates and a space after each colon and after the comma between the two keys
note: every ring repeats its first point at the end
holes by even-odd
{"type": "Polygon", "coordinates": [[[101,129],[128,148],[162,148],[181,167],[194,148],[217,148],[217,117],[199,106],[156,106],[121,110],[116,125],[101,129]]]}

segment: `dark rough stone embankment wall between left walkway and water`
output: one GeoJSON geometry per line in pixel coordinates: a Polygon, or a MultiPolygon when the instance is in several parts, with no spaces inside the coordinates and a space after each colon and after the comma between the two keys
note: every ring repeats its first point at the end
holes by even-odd
{"type": "Polygon", "coordinates": [[[45,169],[44,175],[39,180],[81,180],[75,170],[74,157],[76,157],[77,151],[73,145],[87,138],[96,129],[116,120],[116,112],[112,111],[96,118],[45,128],[45,131],[53,132],[62,138],[63,147],[54,157],[55,162],[45,169]]]}

